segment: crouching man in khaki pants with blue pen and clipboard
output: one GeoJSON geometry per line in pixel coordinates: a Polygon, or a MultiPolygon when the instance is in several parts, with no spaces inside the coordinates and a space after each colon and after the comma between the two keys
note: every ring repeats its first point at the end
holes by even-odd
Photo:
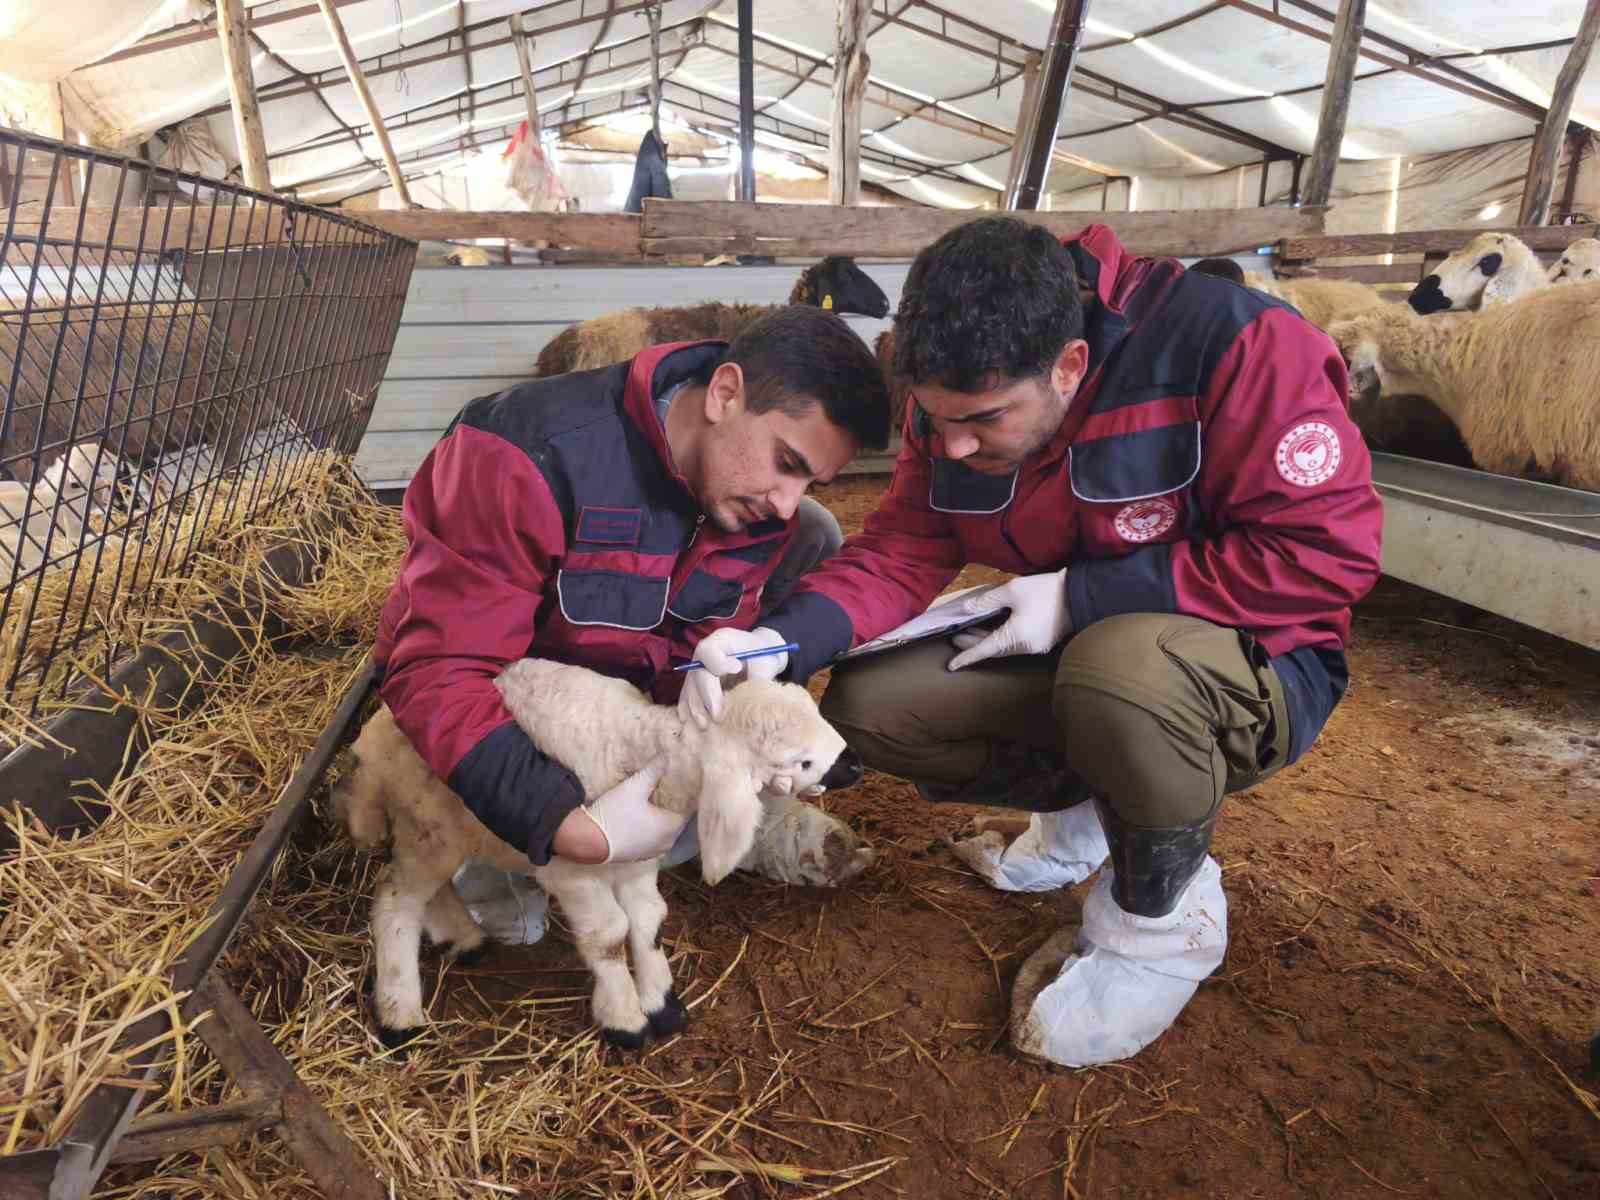
{"type": "Polygon", "coordinates": [[[1032,811],[957,843],[992,885],[1110,859],[1022,966],[1011,1040],[1128,1058],[1222,962],[1222,795],[1299,757],[1349,680],[1381,512],[1344,363],[1256,291],[1003,218],[917,258],[894,333],[914,405],[888,494],[758,630],[696,648],[694,704],[717,710],[734,642],[797,642],[805,678],[966,563],[1014,573],[965,600],[997,627],[842,664],[824,712],[930,800],[1032,811]]]}

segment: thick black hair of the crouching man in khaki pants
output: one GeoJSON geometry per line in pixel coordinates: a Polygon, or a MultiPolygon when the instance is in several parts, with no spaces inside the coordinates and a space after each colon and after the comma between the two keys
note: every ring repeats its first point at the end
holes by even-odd
{"type": "Polygon", "coordinates": [[[917,254],[894,314],[894,374],[982,392],[1050,373],[1083,336],[1067,248],[1048,229],[987,216],[917,254]]]}

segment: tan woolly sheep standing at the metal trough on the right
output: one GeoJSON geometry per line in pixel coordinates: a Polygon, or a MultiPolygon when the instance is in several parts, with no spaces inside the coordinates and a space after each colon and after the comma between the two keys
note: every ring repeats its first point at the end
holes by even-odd
{"type": "Polygon", "coordinates": [[[1352,400],[1426,397],[1482,469],[1600,491],[1600,282],[1445,317],[1392,304],[1328,333],[1352,400]]]}

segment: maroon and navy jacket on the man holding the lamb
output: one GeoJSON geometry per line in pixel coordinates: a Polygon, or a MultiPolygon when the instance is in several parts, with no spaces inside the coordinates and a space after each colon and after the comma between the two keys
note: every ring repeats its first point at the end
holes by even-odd
{"type": "Polygon", "coordinates": [[[694,643],[755,624],[794,523],[704,523],[656,398],[709,379],[723,342],[531,379],[469,403],[405,494],[381,694],[434,773],[506,842],[549,861],[578,779],[512,722],[494,678],[534,656],[677,698],[694,643]]]}

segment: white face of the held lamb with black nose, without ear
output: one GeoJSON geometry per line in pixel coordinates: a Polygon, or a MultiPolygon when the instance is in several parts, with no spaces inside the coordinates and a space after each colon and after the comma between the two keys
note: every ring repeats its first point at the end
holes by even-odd
{"type": "Polygon", "coordinates": [[[741,683],[728,693],[722,723],[749,738],[762,789],[821,795],[861,778],[861,757],[797,683],[741,683]]]}

